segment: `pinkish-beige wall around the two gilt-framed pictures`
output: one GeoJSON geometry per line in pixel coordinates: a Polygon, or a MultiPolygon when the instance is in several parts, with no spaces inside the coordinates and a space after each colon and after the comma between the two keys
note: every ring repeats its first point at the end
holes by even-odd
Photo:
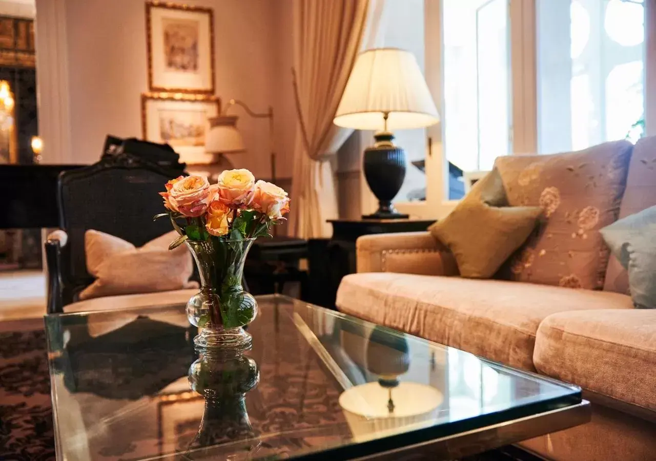
{"type": "MultiPolygon", "coordinates": [[[[42,94],[40,104],[68,102],[70,153],[49,156],[49,139],[44,133],[44,159],[51,163],[93,163],[100,155],[106,134],[141,137],[140,94],[148,90],[145,2],[37,0],[37,34],[46,29],[45,23],[50,20],[45,14],[39,18],[39,11],[46,12],[50,5],[44,4],[51,1],[61,5],[63,14],[60,14],[65,18],[61,38],[64,46],[60,52],[68,55],[68,69],[64,72],[68,82],[58,87],[68,84],[70,90],[63,102],[58,102],[56,95],[42,94]]],[[[241,99],[255,111],[274,106],[277,169],[279,176],[289,176],[294,136],[289,114],[293,113],[293,99],[288,97],[291,88],[280,90],[287,81],[278,73],[291,58],[281,56],[277,44],[291,43],[291,31],[290,28],[281,30],[276,21],[282,18],[285,24],[291,24],[291,1],[194,0],[188,3],[214,10],[216,94],[224,103],[231,98],[241,99]]],[[[41,50],[47,51],[46,47],[49,43],[41,41],[41,50]]],[[[39,73],[39,85],[47,87],[48,82],[41,81],[50,78],[56,76],[39,73]]],[[[251,169],[258,177],[268,178],[267,122],[247,117],[241,108],[232,108],[231,113],[241,115],[239,128],[248,150],[232,157],[234,164],[251,169]]]]}

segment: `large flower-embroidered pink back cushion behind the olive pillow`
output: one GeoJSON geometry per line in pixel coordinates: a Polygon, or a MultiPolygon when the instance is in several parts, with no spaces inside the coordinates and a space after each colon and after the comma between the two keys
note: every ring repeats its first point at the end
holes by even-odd
{"type": "Polygon", "coordinates": [[[570,153],[499,157],[495,167],[508,204],[544,212],[498,277],[602,289],[609,249],[599,230],[617,220],[632,147],[622,140],[570,153]]]}

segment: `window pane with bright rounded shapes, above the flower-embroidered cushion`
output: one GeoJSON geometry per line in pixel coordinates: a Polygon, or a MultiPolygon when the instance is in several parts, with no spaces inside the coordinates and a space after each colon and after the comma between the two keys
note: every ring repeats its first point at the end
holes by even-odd
{"type": "Polygon", "coordinates": [[[539,153],[642,134],[642,1],[538,0],[536,39],[539,153]]]}

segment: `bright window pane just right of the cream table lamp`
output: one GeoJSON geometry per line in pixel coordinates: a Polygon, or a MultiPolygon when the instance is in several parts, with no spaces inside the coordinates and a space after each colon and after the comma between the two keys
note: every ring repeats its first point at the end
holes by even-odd
{"type": "MultiPolygon", "coordinates": [[[[508,3],[443,0],[444,149],[449,180],[510,153],[508,3]]],[[[449,198],[464,195],[451,184],[449,198]]]]}

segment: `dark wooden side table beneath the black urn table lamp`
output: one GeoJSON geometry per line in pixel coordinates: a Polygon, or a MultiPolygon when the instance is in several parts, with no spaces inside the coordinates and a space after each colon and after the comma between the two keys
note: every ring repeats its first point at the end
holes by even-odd
{"type": "Polygon", "coordinates": [[[309,289],[314,304],[335,308],[337,288],[342,277],[356,271],[356,240],[373,233],[424,231],[435,220],[412,219],[335,219],[331,239],[308,241],[309,289]]]}

